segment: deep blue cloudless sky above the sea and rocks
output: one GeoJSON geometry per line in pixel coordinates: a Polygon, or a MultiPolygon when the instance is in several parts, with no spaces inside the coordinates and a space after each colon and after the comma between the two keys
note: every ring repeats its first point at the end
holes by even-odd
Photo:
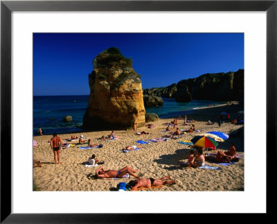
{"type": "Polygon", "coordinates": [[[244,69],[243,33],[34,33],[33,94],[89,95],[92,61],[114,46],[143,89],[244,69]]]}

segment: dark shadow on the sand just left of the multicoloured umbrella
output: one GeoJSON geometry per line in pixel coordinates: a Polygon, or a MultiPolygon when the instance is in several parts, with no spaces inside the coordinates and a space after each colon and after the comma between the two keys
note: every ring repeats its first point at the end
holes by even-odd
{"type": "Polygon", "coordinates": [[[161,155],[159,159],[154,160],[154,162],[157,162],[157,164],[178,165],[179,160],[188,158],[189,152],[190,149],[188,148],[177,149],[174,154],[161,155]]]}

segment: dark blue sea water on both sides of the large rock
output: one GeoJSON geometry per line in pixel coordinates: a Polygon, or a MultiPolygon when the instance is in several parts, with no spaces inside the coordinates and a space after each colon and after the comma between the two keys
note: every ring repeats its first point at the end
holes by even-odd
{"type": "MultiPolygon", "coordinates": [[[[39,127],[44,135],[53,132],[82,132],[82,118],[87,110],[89,96],[34,96],[33,97],[33,130],[37,135],[39,127]],[[72,117],[72,122],[64,123],[66,116],[72,117]]],[[[172,98],[163,98],[161,107],[145,107],[147,113],[158,114],[160,118],[177,117],[190,114],[197,107],[206,107],[208,104],[218,105],[222,102],[191,101],[190,103],[177,103],[172,98]]]]}

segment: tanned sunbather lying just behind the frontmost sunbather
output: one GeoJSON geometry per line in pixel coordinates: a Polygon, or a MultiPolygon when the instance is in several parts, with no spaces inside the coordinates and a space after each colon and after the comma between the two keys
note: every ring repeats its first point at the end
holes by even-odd
{"type": "Polygon", "coordinates": [[[138,171],[135,171],[129,166],[125,166],[123,169],[120,169],[119,171],[114,171],[114,170],[105,171],[103,167],[100,167],[99,169],[96,170],[96,176],[98,178],[123,178],[123,175],[126,175],[127,173],[129,173],[129,175],[132,175],[135,178],[139,178],[139,176],[134,174],[136,172],[138,171]]]}

